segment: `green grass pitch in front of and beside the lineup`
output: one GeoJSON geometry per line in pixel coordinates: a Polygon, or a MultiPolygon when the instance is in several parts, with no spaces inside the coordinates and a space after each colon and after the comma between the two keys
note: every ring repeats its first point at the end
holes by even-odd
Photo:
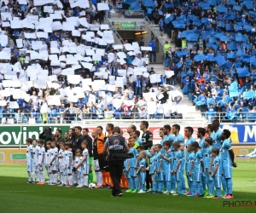
{"type": "MultiPolygon", "coordinates": [[[[1,164],[0,212],[256,212],[256,161],[240,160],[237,164],[238,167],[233,170],[235,199],[230,200],[138,193],[124,193],[121,198],[112,198],[109,189],[90,190],[26,184],[25,164],[1,164]],[[230,208],[228,204],[224,204],[224,202],[236,202],[237,206],[242,201],[254,206],[230,208]]],[[[231,203],[229,204],[232,206],[231,203]]]]}

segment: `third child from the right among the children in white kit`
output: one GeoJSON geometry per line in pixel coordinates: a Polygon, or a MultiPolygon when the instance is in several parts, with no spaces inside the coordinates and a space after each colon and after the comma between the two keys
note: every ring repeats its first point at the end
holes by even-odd
{"type": "Polygon", "coordinates": [[[73,175],[72,175],[72,170],[73,170],[73,153],[72,153],[72,143],[71,142],[66,142],[65,143],[65,169],[66,169],[66,181],[68,179],[68,184],[66,187],[72,187],[73,186],[73,175]]]}

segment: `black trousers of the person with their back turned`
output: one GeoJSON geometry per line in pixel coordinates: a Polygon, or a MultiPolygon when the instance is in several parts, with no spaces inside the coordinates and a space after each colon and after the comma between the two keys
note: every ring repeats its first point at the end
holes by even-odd
{"type": "Polygon", "coordinates": [[[112,195],[115,196],[117,193],[122,193],[120,187],[120,180],[123,174],[124,161],[109,161],[109,173],[113,182],[112,195]]]}

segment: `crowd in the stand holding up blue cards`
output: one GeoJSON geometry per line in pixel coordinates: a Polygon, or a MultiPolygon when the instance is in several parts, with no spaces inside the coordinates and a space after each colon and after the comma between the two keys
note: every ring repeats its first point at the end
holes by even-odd
{"type": "MultiPolygon", "coordinates": [[[[148,19],[166,41],[166,83],[179,83],[209,123],[256,120],[253,1],[145,1],[148,19]],[[148,6],[147,6],[148,5],[148,6]],[[168,76],[168,72],[174,75],[168,76]]],[[[131,4],[132,6],[132,4],[131,4]]]]}

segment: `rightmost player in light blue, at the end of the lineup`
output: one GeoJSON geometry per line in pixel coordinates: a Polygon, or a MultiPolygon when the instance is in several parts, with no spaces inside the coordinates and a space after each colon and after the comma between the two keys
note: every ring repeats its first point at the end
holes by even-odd
{"type": "Polygon", "coordinates": [[[224,170],[224,179],[227,183],[227,194],[224,196],[225,199],[233,199],[233,182],[232,182],[232,166],[236,168],[236,163],[234,162],[234,152],[230,144],[230,130],[223,130],[220,136],[223,141],[222,146],[219,150],[220,153],[220,163],[222,164],[224,170]]]}

